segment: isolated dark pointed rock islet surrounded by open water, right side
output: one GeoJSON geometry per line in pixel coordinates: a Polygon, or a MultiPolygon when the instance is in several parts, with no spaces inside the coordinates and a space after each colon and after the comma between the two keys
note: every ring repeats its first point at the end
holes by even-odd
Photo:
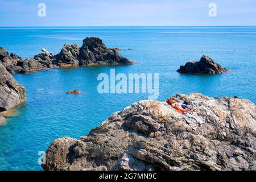
{"type": "Polygon", "coordinates": [[[208,73],[216,74],[228,71],[228,69],[222,68],[222,66],[207,55],[203,55],[200,61],[189,61],[184,66],[180,66],[177,72],[180,73],[208,73]]]}

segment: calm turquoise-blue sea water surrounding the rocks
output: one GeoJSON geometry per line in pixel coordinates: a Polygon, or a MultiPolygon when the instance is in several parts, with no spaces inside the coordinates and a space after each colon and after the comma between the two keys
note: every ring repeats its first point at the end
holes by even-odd
{"type": "Polygon", "coordinates": [[[60,137],[79,138],[115,111],[147,94],[99,94],[97,76],[110,73],[159,73],[159,99],[175,93],[239,96],[255,103],[256,27],[46,27],[0,28],[0,47],[33,57],[45,47],[58,53],[65,43],[81,46],[86,36],[137,64],[117,67],[51,69],[14,75],[26,86],[27,102],[19,115],[0,126],[0,170],[41,170],[38,152],[60,137]],[[131,48],[131,50],[128,50],[131,48]],[[233,71],[220,75],[180,75],[179,65],[209,55],[233,71]],[[68,90],[83,94],[69,96],[68,90]]]}

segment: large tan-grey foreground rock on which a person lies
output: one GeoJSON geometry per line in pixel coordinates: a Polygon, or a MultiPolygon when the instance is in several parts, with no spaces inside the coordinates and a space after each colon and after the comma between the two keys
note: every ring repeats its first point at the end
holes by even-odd
{"type": "Polygon", "coordinates": [[[176,94],[198,111],[179,114],[166,102],[139,101],[80,139],[60,138],[45,170],[255,170],[256,108],[233,97],[176,94]]]}

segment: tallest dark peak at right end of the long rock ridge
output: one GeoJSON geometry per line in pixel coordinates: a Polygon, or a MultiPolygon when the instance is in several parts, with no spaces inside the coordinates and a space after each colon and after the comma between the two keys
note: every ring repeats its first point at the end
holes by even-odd
{"type": "Polygon", "coordinates": [[[119,55],[117,51],[107,48],[100,38],[84,39],[80,48],[80,65],[117,65],[133,64],[133,61],[119,55]]]}

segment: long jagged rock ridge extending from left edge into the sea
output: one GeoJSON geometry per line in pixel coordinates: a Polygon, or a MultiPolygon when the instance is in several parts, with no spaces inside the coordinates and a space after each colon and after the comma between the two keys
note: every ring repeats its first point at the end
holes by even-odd
{"type": "Polygon", "coordinates": [[[92,37],[84,39],[81,48],[77,44],[65,44],[57,55],[42,48],[42,52],[34,58],[25,60],[14,53],[9,56],[5,48],[0,48],[0,62],[12,74],[77,65],[134,64],[116,50],[117,48],[107,48],[101,39],[92,37]]]}

